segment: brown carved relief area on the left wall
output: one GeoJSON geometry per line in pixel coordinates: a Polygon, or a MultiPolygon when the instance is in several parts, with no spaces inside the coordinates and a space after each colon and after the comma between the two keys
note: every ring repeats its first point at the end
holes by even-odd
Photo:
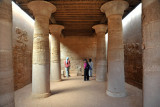
{"type": "Polygon", "coordinates": [[[28,34],[19,28],[16,44],[13,47],[13,67],[15,90],[22,88],[31,82],[32,54],[27,51],[28,34]]]}

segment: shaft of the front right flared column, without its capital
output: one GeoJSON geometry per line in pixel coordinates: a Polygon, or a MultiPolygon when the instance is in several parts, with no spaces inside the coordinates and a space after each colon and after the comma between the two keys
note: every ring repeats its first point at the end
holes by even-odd
{"type": "Polygon", "coordinates": [[[126,92],[121,15],[111,15],[108,17],[108,35],[107,94],[113,97],[123,97],[126,92]]]}

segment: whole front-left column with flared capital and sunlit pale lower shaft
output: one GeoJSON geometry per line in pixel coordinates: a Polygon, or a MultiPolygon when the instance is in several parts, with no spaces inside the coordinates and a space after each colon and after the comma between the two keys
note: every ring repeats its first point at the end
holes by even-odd
{"type": "Polygon", "coordinates": [[[46,1],[32,1],[28,8],[35,16],[32,56],[32,95],[50,95],[49,18],[56,7],[46,1]]]}

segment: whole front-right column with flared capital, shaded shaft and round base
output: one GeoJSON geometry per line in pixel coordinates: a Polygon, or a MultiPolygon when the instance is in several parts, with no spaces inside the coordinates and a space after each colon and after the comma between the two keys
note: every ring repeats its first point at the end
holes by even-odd
{"type": "Polygon", "coordinates": [[[128,3],[123,0],[110,1],[102,5],[101,11],[108,18],[108,83],[107,95],[126,95],[124,78],[124,45],[122,16],[128,3]]]}

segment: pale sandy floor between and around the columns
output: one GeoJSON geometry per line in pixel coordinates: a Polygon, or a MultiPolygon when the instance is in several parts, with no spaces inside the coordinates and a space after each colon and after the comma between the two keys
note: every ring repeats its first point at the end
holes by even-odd
{"type": "Polygon", "coordinates": [[[52,82],[52,96],[31,98],[31,84],[15,92],[16,107],[142,107],[142,91],[126,84],[127,97],[112,98],[105,94],[106,83],[96,82],[95,77],[70,77],[52,82]]]}

